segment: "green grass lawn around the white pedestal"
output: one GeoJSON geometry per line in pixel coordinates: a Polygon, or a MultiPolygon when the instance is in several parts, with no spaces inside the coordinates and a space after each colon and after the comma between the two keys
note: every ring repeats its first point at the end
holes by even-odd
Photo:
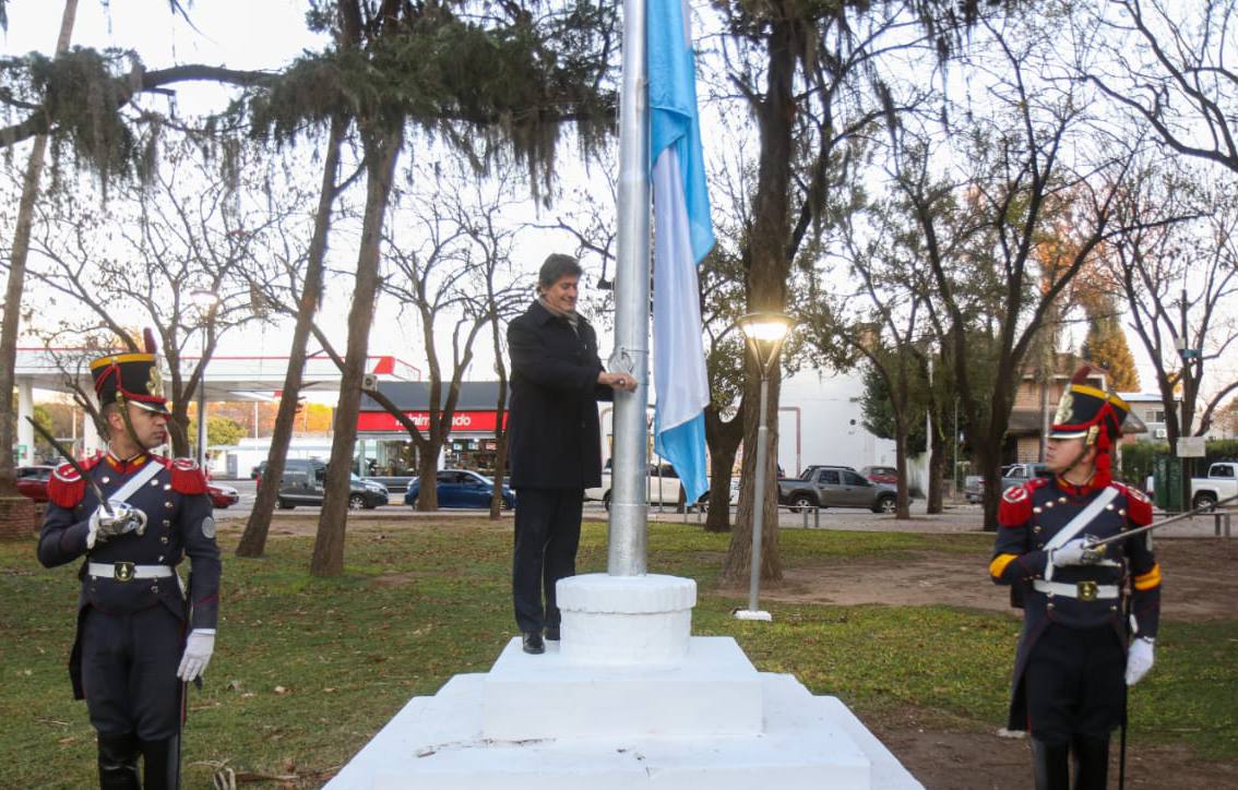
{"type": "MultiPolygon", "coordinates": [[[[191,693],[184,786],[210,786],[206,763],[238,773],[312,778],[347,762],[409,697],[452,675],[485,671],[514,635],[511,523],[426,519],[366,526],[348,539],[347,572],[317,579],[312,537],[272,536],[267,557],[232,555],[206,687],[191,693]]],[[[912,707],[943,727],[1004,723],[1018,623],[940,606],[766,606],[774,623],[729,613],[744,593],[718,594],[729,542],[695,525],[651,525],[649,567],[697,579],[693,633],[732,635],[760,670],[792,672],[841,697],[860,718],[912,707]]],[[[985,535],[787,530],[784,562],[821,557],[974,553],[987,584],[985,535]]],[[[66,671],[76,566],[46,571],[33,541],[0,544],[0,786],[88,788],[94,733],[66,671]]],[[[586,524],[578,570],[605,567],[605,525],[586,524]]],[[[998,594],[998,593],[995,593],[998,594]]],[[[1238,617],[1162,625],[1155,671],[1136,690],[1134,738],[1238,759],[1238,617]]]]}

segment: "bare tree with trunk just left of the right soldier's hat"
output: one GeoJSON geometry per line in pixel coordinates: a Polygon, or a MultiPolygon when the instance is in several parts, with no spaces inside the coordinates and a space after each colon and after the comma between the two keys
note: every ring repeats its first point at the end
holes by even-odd
{"type": "Polygon", "coordinates": [[[1087,150],[1073,144],[1088,118],[1068,82],[1046,80],[1036,71],[1046,67],[1040,56],[1052,51],[1055,31],[1024,20],[982,27],[988,46],[963,62],[990,85],[993,110],[967,115],[969,132],[953,151],[962,162],[956,181],[935,176],[933,157],[945,150],[919,145],[896,152],[895,183],[924,235],[938,332],[950,344],[943,352],[973,415],[968,430],[984,475],[985,527],[995,529],[1002,443],[1024,359],[1063,289],[1110,233],[1127,160],[1067,156],[1087,150]],[[1068,217],[1070,239],[1057,254],[1037,255],[1050,223],[1061,217],[1068,217]],[[988,381],[973,373],[977,355],[988,381]]]}

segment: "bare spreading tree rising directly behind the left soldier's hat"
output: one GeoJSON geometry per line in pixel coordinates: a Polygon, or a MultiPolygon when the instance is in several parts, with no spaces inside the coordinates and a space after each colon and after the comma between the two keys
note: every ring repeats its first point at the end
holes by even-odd
{"type": "Polygon", "coordinates": [[[73,199],[40,204],[42,261],[31,275],[80,307],[66,328],[82,336],[102,331],[136,350],[140,329],[154,329],[171,379],[172,451],[188,456],[189,404],[220,336],[254,319],[248,282],[262,267],[267,230],[287,209],[255,202],[260,187],[230,182],[197,161],[187,141],[166,151],[167,167],[145,187],[120,187],[106,207],[83,199],[84,184],[73,199]]]}

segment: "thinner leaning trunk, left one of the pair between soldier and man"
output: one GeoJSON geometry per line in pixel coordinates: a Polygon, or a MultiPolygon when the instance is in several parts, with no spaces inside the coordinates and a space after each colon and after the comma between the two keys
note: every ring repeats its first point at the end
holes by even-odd
{"type": "Polygon", "coordinates": [[[271,527],[271,514],[280,493],[280,480],[284,479],[284,461],[292,441],[292,428],[297,416],[297,399],[301,395],[301,381],[305,374],[306,344],[310,342],[311,326],[318,310],[322,291],[323,261],[327,258],[327,234],[331,230],[331,207],[335,202],[335,177],[339,171],[339,149],[344,144],[348,120],[334,118],[331,121],[331,136],[327,140],[327,158],[323,162],[322,189],[318,193],[318,209],[314,214],[313,238],[310,240],[310,255],[306,260],[306,279],[297,305],[297,323],[292,332],[292,347],[288,349],[288,369],[284,374],[284,394],[280,409],[271,430],[271,448],[266,454],[266,472],[262,477],[266,485],[259,485],[254,510],[245,523],[245,531],[236,545],[239,557],[261,557],[266,551],[266,534],[271,527]]]}

